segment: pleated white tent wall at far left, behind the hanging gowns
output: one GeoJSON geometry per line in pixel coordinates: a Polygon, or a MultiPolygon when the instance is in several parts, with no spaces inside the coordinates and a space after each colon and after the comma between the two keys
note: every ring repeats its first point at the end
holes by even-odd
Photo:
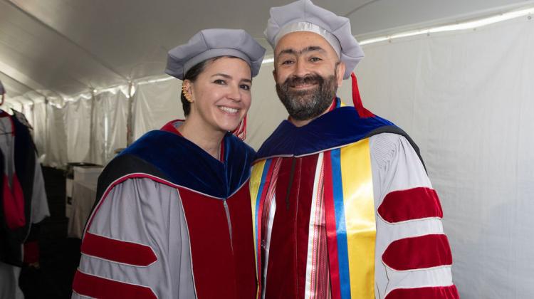
{"type": "Polygon", "coordinates": [[[1,108],[21,111],[33,127],[33,140],[43,164],[69,162],[106,164],[115,150],[126,147],[129,97],[127,88],[63,101],[43,95],[12,98],[1,108]]]}

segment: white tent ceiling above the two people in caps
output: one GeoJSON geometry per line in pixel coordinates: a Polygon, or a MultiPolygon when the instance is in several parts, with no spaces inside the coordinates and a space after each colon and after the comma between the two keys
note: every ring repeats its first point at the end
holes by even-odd
{"type": "MultiPolygon", "coordinates": [[[[288,2],[0,0],[0,80],[11,97],[29,90],[66,96],[162,75],[167,51],[203,28],[244,28],[268,48],[263,38],[268,9],[288,2]]],[[[361,39],[533,2],[316,0],[315,4],[350,18],[353,33],[361,39]]]]}

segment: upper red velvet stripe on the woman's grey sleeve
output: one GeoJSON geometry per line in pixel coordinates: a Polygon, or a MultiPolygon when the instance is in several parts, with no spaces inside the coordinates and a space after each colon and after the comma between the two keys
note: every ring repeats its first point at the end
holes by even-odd
{"type": "Polygon", "coordinates": [[[149,266],[157,261],[150,246],[98,236],[89,231],[85,232],[81,251],[88,256],[132,266],[149,266]]]}

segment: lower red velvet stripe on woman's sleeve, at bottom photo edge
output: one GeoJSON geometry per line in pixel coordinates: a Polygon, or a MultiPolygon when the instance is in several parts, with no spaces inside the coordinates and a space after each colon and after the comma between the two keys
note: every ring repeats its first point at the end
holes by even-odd
{"type": "Polygon", "coordinates": [[[151,288],[143,285],[133,285],[117,280],[110,280],[99,276],[92,276],[79,270],[76,271],[73,291],[79,295],[91,298],[157,298],[151,288]]]}

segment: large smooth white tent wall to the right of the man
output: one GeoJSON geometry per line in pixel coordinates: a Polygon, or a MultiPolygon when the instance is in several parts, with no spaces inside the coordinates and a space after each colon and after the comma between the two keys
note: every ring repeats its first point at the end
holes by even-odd
{"type": "Polygon", "coordinates": [[[372,111],[409,132],[441,197],[464,299],[533,298],[534,21],[366,46],[372,111]]]}

